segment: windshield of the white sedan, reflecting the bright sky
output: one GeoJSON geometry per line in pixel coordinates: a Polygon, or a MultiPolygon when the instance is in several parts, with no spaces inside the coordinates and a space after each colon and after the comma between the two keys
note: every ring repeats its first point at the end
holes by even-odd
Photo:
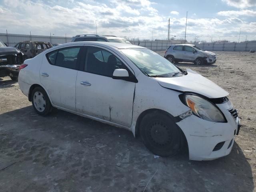
{"type": "Polygon", "coordinates": [[[144,48],[120,49],[144,74],[152,77],[172,77],[180,70],[159,54],[144,48]]]}

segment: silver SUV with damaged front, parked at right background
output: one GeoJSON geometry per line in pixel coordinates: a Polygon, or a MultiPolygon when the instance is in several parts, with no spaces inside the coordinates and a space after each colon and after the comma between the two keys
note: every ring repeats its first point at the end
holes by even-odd
{"type": "Polygon", "coordinates": [[[203,50],[193,44],[177,44],[171,45],[166,49],[164,58],[170,62],[194,62],[196,65],[214,64],[216,62],[216,54],[203,50]]]}

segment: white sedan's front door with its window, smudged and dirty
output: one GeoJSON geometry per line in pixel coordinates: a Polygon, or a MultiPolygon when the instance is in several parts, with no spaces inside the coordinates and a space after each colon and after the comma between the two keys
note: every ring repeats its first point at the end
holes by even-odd
{"type": "Polygon", "coordinates": [[[121,58],[110,50],[86,46],[84,65],[76,78],[76,110],[129,127],[135,83],[113,79],[112,74],[118,68],[131,74],[121,58]]]}

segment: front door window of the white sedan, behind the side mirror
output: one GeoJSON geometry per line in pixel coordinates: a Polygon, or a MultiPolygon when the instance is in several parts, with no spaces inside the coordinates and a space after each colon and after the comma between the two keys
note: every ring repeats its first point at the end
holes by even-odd
{"type": "Polygon", "coordinates": [[[102,48],[87,46],[84,71],[112,77],[115,69],[128,70],[112,53],[102,48]]]}

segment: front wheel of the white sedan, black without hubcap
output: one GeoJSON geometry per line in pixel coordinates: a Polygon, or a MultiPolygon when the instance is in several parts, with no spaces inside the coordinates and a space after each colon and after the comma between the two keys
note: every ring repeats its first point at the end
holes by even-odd
{"type": "Polygon", "coordinates": [[[151,112],[142,118],[140,136],[146,148],[158,156],[174,156],[182,148],[180,128],[163,112],[151,112]]]}

